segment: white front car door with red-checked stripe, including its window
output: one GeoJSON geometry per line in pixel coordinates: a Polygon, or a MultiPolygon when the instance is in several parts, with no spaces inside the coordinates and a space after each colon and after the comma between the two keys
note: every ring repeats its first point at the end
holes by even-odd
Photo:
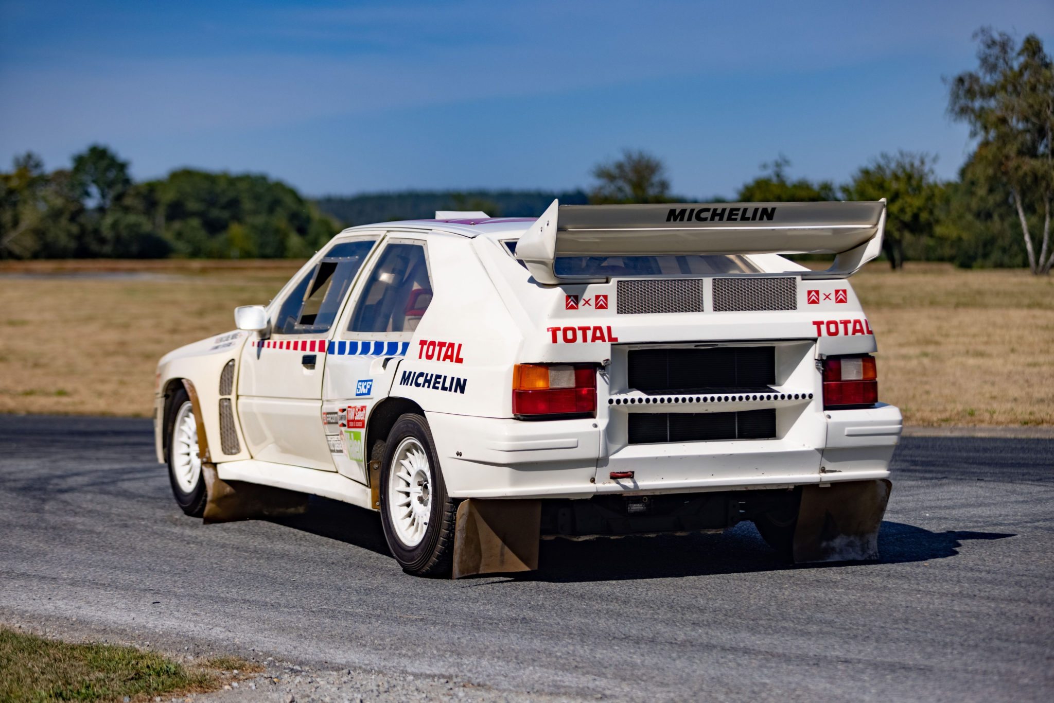
{"type": "Polygon", "coordinates": [[[348,292],[378,238],[331,242],[271,305],[270,335],[243,347],[238,412],[253,458],[336,470],[320,414],[326,352],[348,292]]]}

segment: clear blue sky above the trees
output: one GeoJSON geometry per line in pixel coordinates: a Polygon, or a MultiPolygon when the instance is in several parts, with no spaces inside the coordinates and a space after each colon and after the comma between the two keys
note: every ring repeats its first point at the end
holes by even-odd
{"type": "Polygon", "coordinates": [[[588,187],[623,148],[730,196],[779,153],[845,180],[969,153],[942,76],[1054,2],[4,2],[0,159],[100,142],[137,178],[264,172],[308,195],[588,187]]]}

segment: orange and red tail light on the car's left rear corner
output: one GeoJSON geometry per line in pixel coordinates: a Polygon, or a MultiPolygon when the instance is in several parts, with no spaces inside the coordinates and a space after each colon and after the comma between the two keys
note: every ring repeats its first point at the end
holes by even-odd
{"type": "Polygon", "coordinates": [[[512,370],[512,414],[521,419],[597,412],[597,367],[592,364],[516,364],[512,370]]]}

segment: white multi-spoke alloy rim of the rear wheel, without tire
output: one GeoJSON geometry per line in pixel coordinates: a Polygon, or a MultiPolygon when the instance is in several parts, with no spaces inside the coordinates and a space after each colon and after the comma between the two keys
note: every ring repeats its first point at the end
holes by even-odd
{"type": "Polygon", "coordinates": [[[428,530],[431,482],[428,453],[416,438],[406,437],[388,466],[388,513],[399,542],[407,547],[421,544],[428,530]]]}

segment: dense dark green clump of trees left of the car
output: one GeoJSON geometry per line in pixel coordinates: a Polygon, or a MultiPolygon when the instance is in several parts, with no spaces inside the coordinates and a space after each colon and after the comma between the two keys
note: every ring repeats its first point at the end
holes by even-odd
{"type": "Polygon", "coordinates": [[[0,173],[2,258],[304,257],[338,231],[266,176],[182,169],[137,183],[98,144],[69,169],[27,153],[0,173]]]}

